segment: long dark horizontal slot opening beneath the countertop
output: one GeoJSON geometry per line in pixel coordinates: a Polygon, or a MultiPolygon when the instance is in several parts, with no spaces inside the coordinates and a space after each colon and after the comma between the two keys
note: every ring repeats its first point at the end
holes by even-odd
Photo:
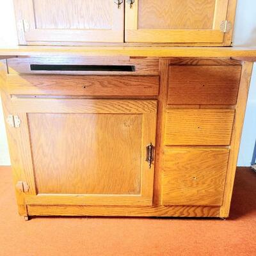
{"type": "Polygon", "coordinates": [[[102,71],[102,72],[135,72],[132,65],[38,65],[31,64],[31,71],[102,71]]]}

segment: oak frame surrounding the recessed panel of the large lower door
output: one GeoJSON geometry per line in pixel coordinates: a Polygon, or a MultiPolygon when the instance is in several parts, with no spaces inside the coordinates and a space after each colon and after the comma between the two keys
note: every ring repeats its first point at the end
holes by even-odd
{"type": "MultiPolygon", "coordinates": [[[[150,169],[146,159],[148,143],[156,140],[156,100],[84,100],[84,99],[12,99],[13,115],[21,121],[17,150],[23,166],[22,177],[29,184],[25,193],[27,205],[152,205],[154,163],[150,169]],[[141,189],[140,195],[38,194],[29,134],[28,113],[93,113],[142,115],[141,189]]],[[[15,129],[15,128],[13,128],[15,129]]],[[[50,179],[50,178],[49,178],[50,179]]]]}

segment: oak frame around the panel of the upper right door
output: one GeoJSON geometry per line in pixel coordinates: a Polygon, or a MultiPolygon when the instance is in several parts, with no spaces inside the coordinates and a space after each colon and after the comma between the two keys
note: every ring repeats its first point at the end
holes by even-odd
{"type": "Polygon", "coordinates": [[[137,0],[130,8],[125,3],[125,42],[171,43],[196,45],[230,45],[232,29],[228,33],[220,31],[221,22],[229,20],[234,26],[237,0],[216,0],[212,29],[138,29],[137,0]]]}

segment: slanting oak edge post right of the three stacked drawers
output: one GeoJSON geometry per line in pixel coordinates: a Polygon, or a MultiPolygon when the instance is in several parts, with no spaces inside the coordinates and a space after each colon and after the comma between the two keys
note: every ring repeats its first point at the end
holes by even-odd
{"type": "Polygon", "coordinates": [[[253,63],[245,62],[243,64],[241,82],[236,105],[236,115],[233,127],[233,133],[230,143],[230,159],[228,161],[227,179],[225,182],[225,193],[223,197],[223,205],[220,209],[220,217],[227,218],[230,211],[230,202],[236,175],[237,157],[239,153],[241,134],[243,131],[244,115],[246,111],[246,103],[250,88],[250,80],[252,76],[253,63]]]}

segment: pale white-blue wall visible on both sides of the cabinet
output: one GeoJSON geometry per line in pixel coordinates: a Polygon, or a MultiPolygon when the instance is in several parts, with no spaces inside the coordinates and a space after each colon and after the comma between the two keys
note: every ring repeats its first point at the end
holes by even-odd
{"type": "MultiPolygon", "coordinates": [[[[15,19],[12,0],[0,0],[0,45],[17,45],[15,31],[15,19]]],[[[234,31],[235,46],[256,47],[256,1],[238,0],[236,26],[234,31]]],[[[253,156],[253,148],[256,140],[256,65],[250,88],[248,107],[244,122],[241,150],[239,154],[239,166],[250,166],[253,156]]],[[[4,120],[0,108],[0,165],[10,164],[4,120]]]]}

